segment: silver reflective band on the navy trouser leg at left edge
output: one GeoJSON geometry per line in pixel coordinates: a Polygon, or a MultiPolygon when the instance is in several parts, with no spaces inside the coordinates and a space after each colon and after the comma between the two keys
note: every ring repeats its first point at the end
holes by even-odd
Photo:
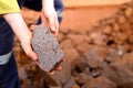
{"type": "Polygon", "coordinates": [[[9,52],[8,54],[0,55],[0,65],[7,64],[10,59],[11,55],[12,55],[12,51],[9,52]]]}

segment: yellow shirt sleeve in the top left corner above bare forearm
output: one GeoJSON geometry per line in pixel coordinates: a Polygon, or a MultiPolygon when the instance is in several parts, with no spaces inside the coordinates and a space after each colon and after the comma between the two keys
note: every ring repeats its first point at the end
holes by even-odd
{"type": "Polygon", "coordinates": [[[20,12],[17,0],[0,0],[0,14],[20,12]]]}

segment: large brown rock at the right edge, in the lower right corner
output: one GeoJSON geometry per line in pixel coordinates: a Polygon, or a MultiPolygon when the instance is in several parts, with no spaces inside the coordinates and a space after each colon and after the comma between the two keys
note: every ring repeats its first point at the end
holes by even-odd
{"type": "Polygon", "coordinates": [[[105,67],[102,75],[114,81],[121,88],[133,88],[133,53],[125,54],[105,67]]]}

